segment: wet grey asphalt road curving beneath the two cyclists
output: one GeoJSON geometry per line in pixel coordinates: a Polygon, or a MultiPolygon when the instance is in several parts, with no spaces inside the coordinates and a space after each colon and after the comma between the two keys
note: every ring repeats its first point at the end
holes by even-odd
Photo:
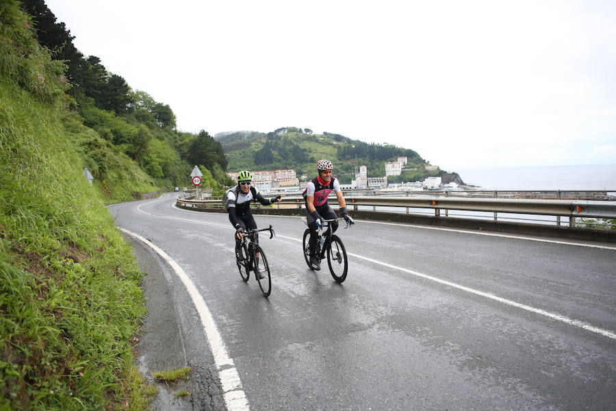
{"type": "MultiPolygon", "coordinates": [[[[179,210],[173,198],[110,212],[192,279],[251,410],[615,409],[616,249],[358,221],[337,232],[351,255],[336,284],[326,262],[307,268],[300,219],[255,216],[277,234],[260,240],[272,271],[266,299],[253,277],[240,279],[227,215],[179,210]]],[[[196,370],[182,409],[222,409],[192,301],[165,277],[196,370]]]]}

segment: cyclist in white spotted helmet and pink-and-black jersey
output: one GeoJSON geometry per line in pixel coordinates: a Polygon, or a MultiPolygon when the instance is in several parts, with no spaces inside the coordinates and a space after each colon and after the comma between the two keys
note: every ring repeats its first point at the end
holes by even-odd
{"type": "MultiPolygon", "coordinates": [[[[317,230],[323,225],[325,219],[331,220],[336,218],[336,213],[327,203],[327,197],[331,192],[336,193],[339,211],[342,218],[347,223],[352,224],[352,219],[349,219],[346,212],[346,201],[342,195],[342,189],[338,179],[331,176],[333,164],[329,160],[320,160],[317,162],[317,170],[319,175],[308,182],[303,195],[306,199],[306,220],[310,229],[310,240],[308,247],[310,251],[310,265],[313,270],[320,270],[319,259],[315,256],[317,230]]],[[[335,232],[338,228],[337,221],[330,224],[331,232],[335,232]]]]}

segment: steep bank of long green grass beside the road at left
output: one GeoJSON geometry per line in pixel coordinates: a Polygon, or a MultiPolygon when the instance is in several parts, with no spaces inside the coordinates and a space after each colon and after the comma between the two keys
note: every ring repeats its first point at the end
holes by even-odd
{"type": "Polygon", "coordinates": [[[141,274],[83,175],[88,145],[125,158],[70,118],[64,68],[28,26],[0,1],[0,410],[143,409],[141,274]]]}

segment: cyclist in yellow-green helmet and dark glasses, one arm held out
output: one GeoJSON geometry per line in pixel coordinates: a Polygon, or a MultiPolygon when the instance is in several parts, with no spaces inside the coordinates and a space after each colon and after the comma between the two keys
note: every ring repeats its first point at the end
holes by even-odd
{"type": "MultiPolygon", "coordinates": [[[[238,185],[227,190],[227,208],[229,208],[229,221],[235,227],[235,256],[241,261],[242,256],[242,232],[246,229],[256,229],[257,223],[251,213],[251,202],[259,201],[264,206],[280,202],[281,195],[266,199],[256,187],[252,186],[253,174],[250,171],[240,171],[238,185]]],[[[255,242],[259,237],[255,236],[255,242]]]]}

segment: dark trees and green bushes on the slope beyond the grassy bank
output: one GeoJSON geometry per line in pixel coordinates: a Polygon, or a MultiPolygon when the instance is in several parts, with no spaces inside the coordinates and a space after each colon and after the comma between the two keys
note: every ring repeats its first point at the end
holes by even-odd
{"type": "MultiPolygon", "coordinates": [[[[144,91],[132,90],[123,77],[109,73],[96,56],[85,57],[73,45],[73,36],[64,23],[57,23],[43,0],[22,0],[21,5],[30,16],[24,16],[23,27],[7,32],[5,38],[18,34],[23,41],[38,40],[53,50],[44,57],[53,62],[47,64],[51,70],[47,73],[39,73],[33,66],[29,76],[38,82],[22,79],[20,84],[31,87],[31,92],[47,92],[48,101],[64,99],[68,104],[70,110],[63,107],[59,113],[64,134],[75,143],[83,166],[94,176],[107,203],[138,199],[144,192],[161,188],[188,186],[194,165],[211,171],[213,179],[205,179],[201,188],[216,191],[218,186],[231,184],[224,172],[227,158],[207,132],[180,132],[169,105],[155,101],[144,91]]],[[[5,46],[10,45],[16,43],[5,42],[5,46]]],[[[21,58],[31,60],[32,56],[21,58]]],[[[13,65],[18,67],[18,62],[15,60],[13,65]]]]}

